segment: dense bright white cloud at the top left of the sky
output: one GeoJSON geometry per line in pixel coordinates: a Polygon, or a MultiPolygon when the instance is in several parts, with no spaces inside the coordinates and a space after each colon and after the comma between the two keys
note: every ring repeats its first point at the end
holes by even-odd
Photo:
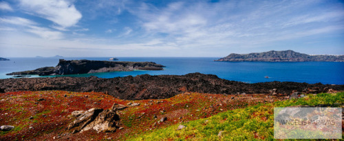
{"type": "Polygon", "coordinates": [[[74,4],[64,0],[20,0],[20,5],[34,15],[56,23],[60,29],[76,25],[82,17],[74,4]]]}

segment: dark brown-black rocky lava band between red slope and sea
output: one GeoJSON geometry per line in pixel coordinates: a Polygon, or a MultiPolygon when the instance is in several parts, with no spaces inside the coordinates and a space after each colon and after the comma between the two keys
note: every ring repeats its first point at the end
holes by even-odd
{"type": "Polygon", "coordinates": [[[66,90],[71,92],[105,92],[119,99],[166,99],[183,92],[211,94],[277,94],[292,92],[321,93],[344,90],[344,85],[297,82],[245,84],[220,79],[216,75],[138,75],[136,77],[44,77],[0,79],[0,92],[28,90],[66,90]]]}

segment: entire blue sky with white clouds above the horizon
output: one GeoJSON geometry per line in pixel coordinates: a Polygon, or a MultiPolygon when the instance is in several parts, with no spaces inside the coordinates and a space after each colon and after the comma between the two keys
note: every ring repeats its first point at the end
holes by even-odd
{"type": "Polygon", "coordinates": [[[0,57],[344,54],[344,1],[0,0],[0,57]]]}

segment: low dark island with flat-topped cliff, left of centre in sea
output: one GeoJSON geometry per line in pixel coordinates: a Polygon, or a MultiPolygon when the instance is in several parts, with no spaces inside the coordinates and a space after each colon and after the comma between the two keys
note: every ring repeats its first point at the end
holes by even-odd
{"type": "Polygon", "coordinates": [[[75,75],[83,73],[103,73],[110,71],[149,70],[160,71],[164,66],[155,62],[111,62],[94,60],[59,60],[57,66],[37,68],[32,71],[8,73],[6,75],[75,75]]]}

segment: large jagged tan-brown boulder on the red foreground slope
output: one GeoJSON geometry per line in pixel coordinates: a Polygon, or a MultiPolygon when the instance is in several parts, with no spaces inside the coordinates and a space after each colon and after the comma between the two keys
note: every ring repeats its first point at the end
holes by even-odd
{"type": "Polygon", "coordinates": [[[74,111],[72,112],[72,116],[77,118],[68,125],[68,129],[73,129],[73,133],[90,129],[94,129],[98,133],[114,132],[119,128],[116,126],[116,121],[120,120],[120,116],[118,116],[116,110],[115,103],[110,110],[92,108],[87,111],[74,111]]]}

